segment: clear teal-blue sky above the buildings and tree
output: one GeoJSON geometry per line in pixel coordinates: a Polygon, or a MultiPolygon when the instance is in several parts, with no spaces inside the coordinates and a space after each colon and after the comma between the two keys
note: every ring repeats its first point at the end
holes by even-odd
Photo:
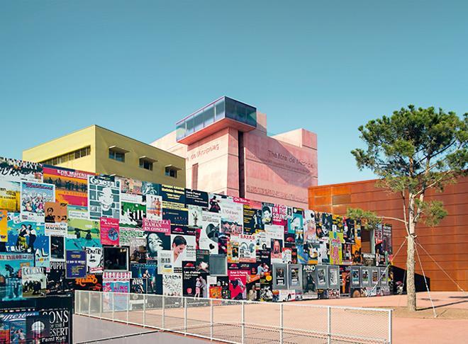
{"type": "Polygon", "coordinates": [[[219,96],[318,134],[319,184],[372,178],[357,127],[468,111],[468,1],[0,1],[0,156],[91,124],[143,142],[219,96]]]}

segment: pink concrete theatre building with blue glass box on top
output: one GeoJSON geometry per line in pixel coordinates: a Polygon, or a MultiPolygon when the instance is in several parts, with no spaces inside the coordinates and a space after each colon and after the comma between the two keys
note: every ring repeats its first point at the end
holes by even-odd
{"type": "Polygon", "coordinates": [[[176,123],[152,145],[186,160],[186,188],[308,207],[317,185],[317,135],[304,129],[267,134],[267,116],[228,97],[176,123]]]}

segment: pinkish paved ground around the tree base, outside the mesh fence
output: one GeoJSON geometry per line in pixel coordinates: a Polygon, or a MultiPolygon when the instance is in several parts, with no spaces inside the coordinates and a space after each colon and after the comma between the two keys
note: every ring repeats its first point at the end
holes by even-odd
{"type": "Polygon", "coordinates": [[[431,292],[430,295],[437,318],[434,318],[427,292],[418,293],[417,304],[420,310],[416,314],[406,311],[406,295],[316,300],[306,303],[395,309],[394,343],[468,343],[468,294],[431,292]]]}

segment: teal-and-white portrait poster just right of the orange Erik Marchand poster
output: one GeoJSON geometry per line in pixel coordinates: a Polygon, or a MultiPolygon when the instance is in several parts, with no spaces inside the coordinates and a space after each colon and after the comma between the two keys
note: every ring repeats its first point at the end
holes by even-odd
{"type": "Polygon", "coordinates": [[[118,219],[121,214],[121,182],[110,176],[88,176],[89,219],[118,219]]]}

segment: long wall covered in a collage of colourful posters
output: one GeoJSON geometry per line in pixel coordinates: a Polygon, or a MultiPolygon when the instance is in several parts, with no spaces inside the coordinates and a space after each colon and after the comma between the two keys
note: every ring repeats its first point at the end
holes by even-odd
{"type": "Polygon", "coordinates": [[[374,270],[391,261],[391,226],[374,230],[375,255],[362,253],[364,230],[313,210],[0,158],[0,301],[75,289],[256,301],[389,294],[391,276],[374,280],[374,270]]]}

